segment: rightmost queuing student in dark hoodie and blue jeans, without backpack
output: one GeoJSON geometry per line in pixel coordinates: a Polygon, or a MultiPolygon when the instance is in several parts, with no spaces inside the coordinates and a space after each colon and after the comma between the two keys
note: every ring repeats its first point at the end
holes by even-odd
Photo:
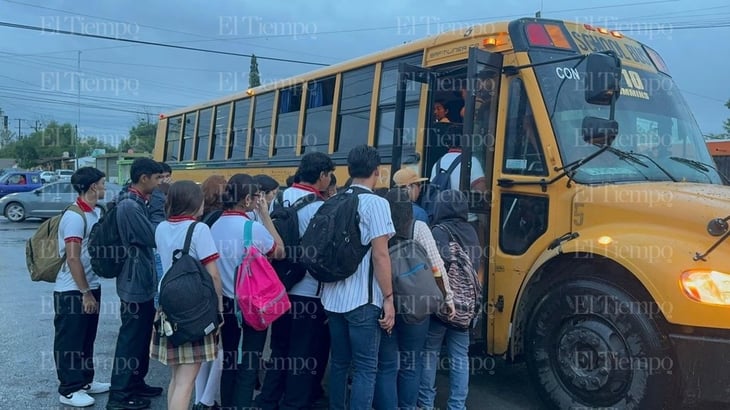
{"type": "MultiPolygon", "coordinates": [[[[469,201],[460,191],[447,190],[439,194],[434,214],[433,237],[443,260],[449,260],[449,234],[438,225],[453,233],[462,249],[469,255],[475,270],[479,269],[479,239],[474,226],[468,219],[469,201]]],[[[469,330],[446,325],[432,315],[428,336],[423,348],[420,365],[421,382],[418,391],[418,407],[431,409],[436,397],[436,370],[441,345],[446,342],[449,355],[449,399],[448,409],[465,409],[469,394],[469,330]]]]}

